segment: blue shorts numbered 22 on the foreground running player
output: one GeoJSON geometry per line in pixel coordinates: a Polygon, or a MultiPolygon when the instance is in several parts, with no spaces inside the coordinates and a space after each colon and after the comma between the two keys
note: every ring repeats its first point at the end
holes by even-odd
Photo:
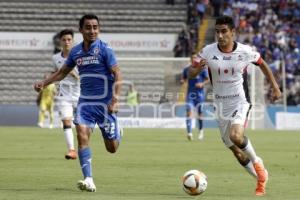
{"type": "Polygon", "coordinates": [[[120,129],[117,116],[108,113],[107,104],[99,102],[81,102],[77,106],[75,125],[86,125],[94,128],[97,124],[102,136],[107,140],[120,140],[120,129]]]}

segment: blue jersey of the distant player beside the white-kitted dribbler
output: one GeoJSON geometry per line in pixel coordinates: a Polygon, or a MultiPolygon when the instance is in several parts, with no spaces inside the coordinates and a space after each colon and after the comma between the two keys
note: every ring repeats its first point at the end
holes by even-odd
{"type": "Polygon", "coordinates": [[[197,88],[196,84],[204,82],[205,79],[208,78],[208,72],[206,69],[202,70],[195,78],[189,79],[188,68],[189,66],[185,67],[182,72],[183,78],[185,80],[188,80],[188,90],[186,99],[187,101],[189,99],[197,100],[199,98],[204,100],[204,88],[197,88]]]}

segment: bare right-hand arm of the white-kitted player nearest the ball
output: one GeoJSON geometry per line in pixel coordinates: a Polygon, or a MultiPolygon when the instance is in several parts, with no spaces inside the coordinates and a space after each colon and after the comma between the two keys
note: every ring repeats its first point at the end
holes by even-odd
{"type": "Polygon", "coordinates": [[[270,67],[268,64],[261,59],[261,63],[259,64],[259,68],[264,73],[267,80],[270,82],[272,87],[272,101],[276,101],[281,97],[281,91],[279,89],[279,86],[275,80],[275,77],[273,76],[272,71],[270,70],[270,67]]]}

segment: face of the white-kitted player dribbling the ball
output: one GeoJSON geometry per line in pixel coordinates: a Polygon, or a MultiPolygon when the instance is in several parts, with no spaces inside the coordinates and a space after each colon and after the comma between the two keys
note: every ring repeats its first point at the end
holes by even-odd
{"type": "Polygon", "coordinates": [[[216,38],[221,47],[230,45],[233,41],[234,29],[230,29],[228,25],[216,25],[216,38]]]}

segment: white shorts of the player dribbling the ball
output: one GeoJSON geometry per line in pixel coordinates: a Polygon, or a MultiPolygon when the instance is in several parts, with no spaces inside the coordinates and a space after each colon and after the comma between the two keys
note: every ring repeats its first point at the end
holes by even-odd
{"type": "Polygon", "coordinates": [[[230,127],[232,124],[240,124],[246,127],[248,115],[251,109],[249,103],[243,103],[228,109],[230,111],[223,112],[223,115],[218,115],[217,119],[220,129],[221,138],[224,144],[229,148],[233,146],[233,142],[230,140],[230,127]]]}

